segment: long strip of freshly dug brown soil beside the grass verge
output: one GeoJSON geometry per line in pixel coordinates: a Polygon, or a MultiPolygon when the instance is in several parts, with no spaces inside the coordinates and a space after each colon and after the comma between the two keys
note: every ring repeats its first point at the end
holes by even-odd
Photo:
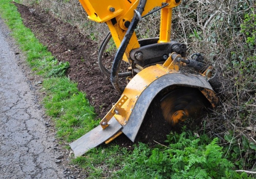
{"type": "Polygon", "coordinates": [[[82,35],[77,27],[53,18],[40,9],[15,5],[25,26],[48,47],[53,56],[59,61],[69,62],[67,75],[78,83],[80,91],[86,93],[98,117],[104,117],[120,95],[114,90],[109,77],[98,68],[98,44],[82,35]]]}

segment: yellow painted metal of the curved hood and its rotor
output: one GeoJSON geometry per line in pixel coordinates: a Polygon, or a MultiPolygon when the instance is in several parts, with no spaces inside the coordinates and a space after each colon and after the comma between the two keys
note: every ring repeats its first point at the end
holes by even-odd
{"type": "MultiPolygon", "coordinates": [[[[180,73],[178,69],[182,62],[178,61],[178,58],[181,58],[181,56],[173,53],[163,65],[157,64],[149,66],[134,76],[128,83],[127,87],[124,89],[123,95],[120,98],[120,100],[122,100],[124,96],[127,97],[127,100],[121,104],[121,113],[118,111],[118,114],[115,114],[115,110],[119,110],[118,105],[120,106],[120,100],[118,100],[116,103],[117,106],[113,106],[110,112],[102,119],[102,121],[104,121],[106,118],[109,120],[114,116],[122,126],[126,125],[139,96],[148,87],[148,85],[163,75],[169,73],[180,73]],[[172,57],[174,57],[174,59],[172,59],[172,57]]],[[[210,101],[212,107],[216,107],[219,99],[215,95],[214,91],[206,88],[203,88],[200,91],[210,101]]],[[[187,115],[187,111],[178,111],[177,114],[172,118],[173,121],[178,122],[185,118],[187,115]]],[[[119,135],[120,134],[118,134],[118,136],[119,135]]],[[[113,136],[107,142],[114,140],[116,137],[113,136]]]]}

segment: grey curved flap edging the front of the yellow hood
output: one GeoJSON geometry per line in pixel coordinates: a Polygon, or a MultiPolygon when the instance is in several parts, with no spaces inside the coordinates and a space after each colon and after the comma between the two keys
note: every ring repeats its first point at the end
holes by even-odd
{"type": "MultiPolygon", "coordinates": [[[[186,86],[193,88],[209,89],[212,92],[212,96],[215,93],[212,90],[211,85],[207,79],[199,75],[184,75],[181,73],[171,73],[159,77],[154,80],[139,96],[134,109],[129,117],[129,120],[125,126],[123,126],[122,132],[132,141],[135,141],[137,133],[146,115],[147,109],[151,104],[151,101],[155,96],[164,88],[171,85],[186,86]]],[[[207,98],[207,96],[206,96],[207,98]]],[[[210,99],[208,98],[210,101],[210,99]]],[[[213,103],[212,101],[210,101],[213,103]]]]}

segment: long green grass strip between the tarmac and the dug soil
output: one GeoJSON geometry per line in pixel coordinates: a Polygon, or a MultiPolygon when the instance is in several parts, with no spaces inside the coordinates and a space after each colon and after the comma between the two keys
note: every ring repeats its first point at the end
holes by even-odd
{"type": "Polygon", "coordinates": [[[98,124],[94,120],[94,108],[90,106],[85,94],[78,91],[77,84],[65,77],[69,63],[58,62],[31,30],[23,25],[22,18],[11,0],[0,1],[0,14],[20,49],[26,54],[32,71],[45,78],[44,104],[46,113],[56,123],[58,137],[65,142],[71,142],[93,129],[98,124]]]}

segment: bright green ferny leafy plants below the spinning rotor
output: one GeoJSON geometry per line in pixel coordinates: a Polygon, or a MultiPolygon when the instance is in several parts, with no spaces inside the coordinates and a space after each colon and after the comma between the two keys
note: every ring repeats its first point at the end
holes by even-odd
{"type": "Polygon", "coordinates": [[[235,172],[234,164],[223,156],[218,138],[212,141],[205,135],[193,136],[189,132],[171,133],[167,136],[169,145],[150,149],[140,143],[131,154],[119,177],[131,176],[136,171],[144,173],[143,178],[247,178],[245,173],[235,172]]]}

